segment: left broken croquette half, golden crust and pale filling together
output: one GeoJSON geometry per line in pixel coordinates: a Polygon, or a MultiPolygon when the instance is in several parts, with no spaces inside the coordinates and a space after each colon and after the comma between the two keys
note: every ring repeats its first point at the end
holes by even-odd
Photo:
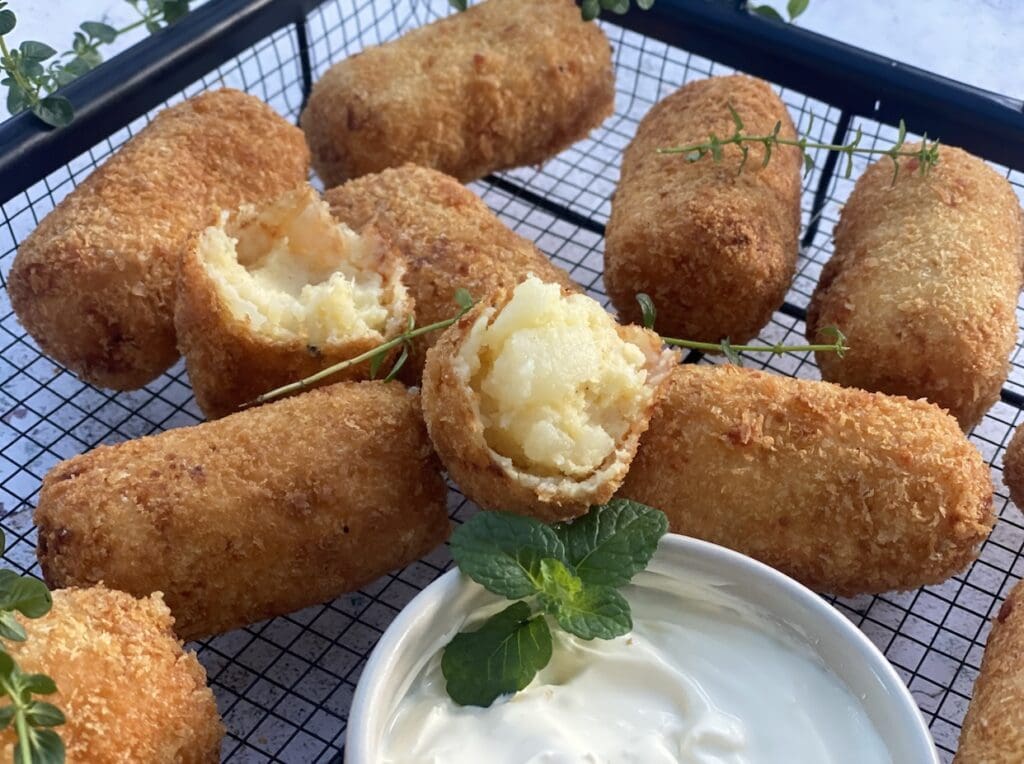
{"type": "MultiPolygon", "coordinates": [[[[210,419],[403,332],[404,259],[373,225],[337,222],[309,186],[247,205],[182,257],[174,323],[210,419]]],[[[331,381],[366,379],[370,363],[331,381]]]]}

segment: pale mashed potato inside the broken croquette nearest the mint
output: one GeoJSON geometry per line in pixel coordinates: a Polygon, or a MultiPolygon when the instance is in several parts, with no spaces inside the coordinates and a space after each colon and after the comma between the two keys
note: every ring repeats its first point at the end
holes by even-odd
{"type": "Polygon", "coordinates": [[[519,469],[585,477],[650,401],[646,356],[584,295],[530,277],[463,347],[487,445],[519,469]]]}

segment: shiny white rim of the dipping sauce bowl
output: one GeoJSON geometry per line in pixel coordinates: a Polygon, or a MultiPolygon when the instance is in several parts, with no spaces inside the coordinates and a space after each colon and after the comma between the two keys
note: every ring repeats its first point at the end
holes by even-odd
{"type": "MultiPolygon", "coordinates": [[[[675,559],[680,556],[695,555],[710,565],[724,566],[732,568],[737,574],[758,577],[766,586],[775,588],[780,597],[795,600],[795,604],[808,608],[827,622],[826,626],[835,629],[839,633],[839,638],[849,643],[849,647],[864,661],[864,668],[869,669],[882,682],[886,696],[891,698],[892,708],[889,712],[911,720],[913,729],[907,729],[906,735],[914,740],[914,748],[920,749],[922,753],[927,750],[929,755],[927,760],[922,759],[921,764],[939,764],[938,751],[928,724],[909,688],[882,650],[838,608],[780,570],[718,544],[678,534],[666,534],[658,543],[654,560],[648,565],[647,570],[664,575],[663,565],[672,564],[668,560],[658,562],[658,557],[666,555],[671,555],[671,558],[675,559]]],[[[421,619],[431,617],[441,603],[455,599],[473,586],[476,585],[470,579],[463,576],[457,567],[453,567],[424,587],[385,630],[359,675],[352,696],[345,730],[345,764],[377,764],[377,761],[371,760],[369,755],[376,750],[372,738],[373,731],[377,728],[377,724],[374,723],[375,717],[383,713],[381,709],[384,704],[379,701],[378,695],[392,665],[392,656],[409,648],[410,643],[416,640],[415,630],[412,627],[421,619]]],[[[762,606],[767,612],[772,611],[770,605],[762,606]]],[[[842,677],[840,679],[843,681],[842,677]]]]}

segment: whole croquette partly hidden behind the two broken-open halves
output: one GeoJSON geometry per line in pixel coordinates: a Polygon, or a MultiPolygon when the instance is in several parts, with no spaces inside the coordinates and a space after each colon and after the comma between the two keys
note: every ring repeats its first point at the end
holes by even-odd
{"type": "MultiPolygon", "coordinates": [[[[464,185],[435,170],[406,165],[351,180],[327,192],[335,217],[356,230],[374,222],[409,262],[406,286],[419,326],[451,319],[455,293],[466,289],[479,301],[510,290],[528,273],[578,290],[568,273],[534,244],[510,230],[464,185]]],[[[426,351],[437,341],[427,334],[413,344],[407,379],[416,382],[426,351]]]]}

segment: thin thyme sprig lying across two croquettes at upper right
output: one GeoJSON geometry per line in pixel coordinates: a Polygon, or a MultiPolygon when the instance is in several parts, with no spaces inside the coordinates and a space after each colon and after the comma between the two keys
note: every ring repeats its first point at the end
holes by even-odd
{"type": "MultiPolygon", "coordinates": [[[[839,152],[846,157],[846,172],[845,176],[850,177],[853,174],[853,158],[856,155],[860,156],[886,156],[889,157],[893,162],[893,183],[896,183],[896,178],[899,177],[900,160],[902,159],[915,159],[918,161],[918,169],[922,175],[927,175],[929,170],[931,170],[935,165],[939,163],[939,141],[929,140],[928,133],[925,133],[921,146],[918,148],[906,148],[906,124],[903,120],[899,121],[898,134],[896,136],[896,142],[893,143],[888,148],[881,148],[874,146],[862,146],[860,141],[863,140],[864,134],[858,127],[854,135],[853,140],[849,143],[822,143],[816,140],[809,140],[806,136],[800,138],[785,138],[779,135],[782,130],[782,122],[776,122],[775,127],[772,128],[771,132],[765,135],[750,135],[746,133],[745,127],[743,126],[743,120],[732,107],[731,103],[728,104],[729,115],[732,117],[732,124],[734,126],[734,131],[732,135],[728,137],[719,137],[715,133],[712,133],[708,140],[699,143],[691,143],[690,145],[681,146],[671,146],[668,148],[658,148],[658,154],[682,154],[686,158],[687,162],[699,162],[707,156],[715,162],[721,162],[725,156],[724,148],[727,145],[739,146],[742,159],[739,162],[739,167],[736,170],[738,175],[743,171],[746,166],[746,160],[750,156],[750,151],[752,145],[760,143],[764,146],[764,159],[761,161],[762,167],[767,167],[768,163],[771,161],[773,150],[780,145],[792,145],[800,148],[804,157],[804,169],[805,174],[809,173],[814,169],[814,158],[811,156],[809,150],[813,148],[823,148],[830,152],[839,152]]],[[[810,123],[807,126],[807,131],[810,132],[811,128],[814,126],[814,115],[811,115],[810,123]]]]}

